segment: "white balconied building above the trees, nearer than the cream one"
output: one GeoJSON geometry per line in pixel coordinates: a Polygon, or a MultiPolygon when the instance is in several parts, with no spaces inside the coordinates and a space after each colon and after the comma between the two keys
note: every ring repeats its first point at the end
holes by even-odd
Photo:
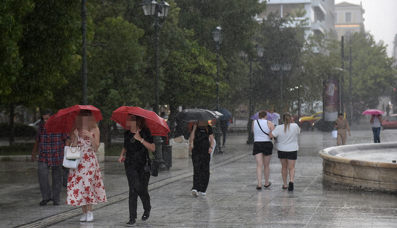
{"type": "Polygon", "coordinates": [[[266,4],[266,11],[256,15],[258,21],[266,18],[270,12],[278,12],[282,17],[290,15],[295,20],[308,18],[308,28],[310,29],[306,31],[306,36],[309,34],[336,36],[334,0],[268,0],[266,4]],[[295,11],[300,8],[306,10],[304,17],[296,17],[295,11]]]}

